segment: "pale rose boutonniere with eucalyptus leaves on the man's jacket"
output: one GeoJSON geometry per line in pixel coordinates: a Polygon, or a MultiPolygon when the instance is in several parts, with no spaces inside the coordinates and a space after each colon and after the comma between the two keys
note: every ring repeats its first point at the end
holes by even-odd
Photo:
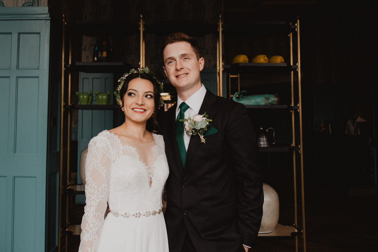
{"type": "Polygon", "coordinates": [[[205,142],[205,138],[203,138],[203,135],[206,130],[208,130],[208,127],[211,125],[209,122],[212,122],[211,119],[208,119],[209,115],[206,114],[195,114],[194,116],[189,116],[184,119],[180,119],[180,121],[184,121],[184,129],[186,131],[186,134],[189,136],[200,136],[201,143],[205,142]]]}

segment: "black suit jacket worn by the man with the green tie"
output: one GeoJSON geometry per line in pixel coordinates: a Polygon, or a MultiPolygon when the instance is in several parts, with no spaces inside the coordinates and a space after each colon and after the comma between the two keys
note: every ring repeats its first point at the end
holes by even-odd
{"type": "Polygon", "coordinates": [[[183,169],[175,139],[177,105],[161,130],[169,164],[164,215],[169,250],[181,251],[186,232],[197,251],[244,251],[260,228],[263,192],[256,133],[244,105],[206,91],[206,112],[218,132],[191,136],[183,169]]]}

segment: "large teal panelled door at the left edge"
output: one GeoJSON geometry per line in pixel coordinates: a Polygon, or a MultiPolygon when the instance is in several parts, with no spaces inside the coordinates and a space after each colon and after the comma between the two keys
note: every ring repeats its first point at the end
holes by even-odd
{"type": "Polygon", "coordinates": [[[50,18],[0,8],[0,251],[45,250],[50,18]]]}

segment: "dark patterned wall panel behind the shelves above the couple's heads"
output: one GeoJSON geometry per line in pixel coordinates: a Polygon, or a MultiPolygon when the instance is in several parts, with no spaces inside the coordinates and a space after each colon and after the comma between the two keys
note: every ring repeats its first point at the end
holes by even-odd
{"type": "MultiPolygon", "coordinates": [[[[176,2],[173,0],[160,0],[135,2],[111,0],[84,0],[83,20],[117,20],[139,26],[140,14],[143,14],[145,24],[159,21],[206,21],[217,23],[218,14],[222,14],[223,1],[191,1],[176,2]]],[[[127,27],[125,27],[127,29],[127,27]]],[[[217,33],[215,30],[214,33],[217,33]]],[[[139,63],[139,34],[122,37],[112,37],[113,61],[139,63]]],[[[82,61],[91,62],[93,48],[97,37],[82,37],[82,61]]],[[[153,34],[145,35],[146,65],[152,70],[163,73],[161,63],[160,43],[163,37],[153,34]]],[[[211,68],[216,64],[216,39],[209,34],[195,38],[200,45],[202,56],[205,58],[205,67],[211,68]]],[[[125,70],[127,71],[127,70],[125,70]]]]}

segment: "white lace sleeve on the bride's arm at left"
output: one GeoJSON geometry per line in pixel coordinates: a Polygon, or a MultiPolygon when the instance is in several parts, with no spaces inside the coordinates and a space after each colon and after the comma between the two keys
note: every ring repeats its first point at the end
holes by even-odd
{"type": "Polygon", "coordinates": [[[85,203],[81,223],[79,252],[95,252],[107,208],[110,184],[111,147],[108,140],[97,136],[89,142],[85,164],[85,203]]]}

